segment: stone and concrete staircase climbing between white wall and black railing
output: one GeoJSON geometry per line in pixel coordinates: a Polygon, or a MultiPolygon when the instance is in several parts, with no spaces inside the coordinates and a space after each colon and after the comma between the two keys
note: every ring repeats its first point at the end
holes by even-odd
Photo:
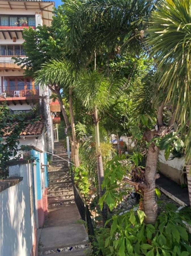
{"type": "Polygon", "coordinates": [[[39,255],[91,255],[85,227],[77,223],[80,214],[63,142],[54,143],[54,154],[65,160],[54,156],[48,168],[48,220],[41,230],[39,255]]]}

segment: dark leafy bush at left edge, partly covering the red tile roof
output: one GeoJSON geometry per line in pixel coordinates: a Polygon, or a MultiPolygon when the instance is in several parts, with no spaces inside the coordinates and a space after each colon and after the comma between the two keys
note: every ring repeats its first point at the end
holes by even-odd
{"type": "Polygon", "coordinates": [[[7,175],[8,166],[7,162],[10,159],[20,159],[21,155],[18,153],[18,144],[20,139],[20,133],[26,125],[24,117],[10,114],[9,108],[6,104],[0,106],[0,162],[1,162],[1,175],[7,175]],[[4,134],[7,134],[5,137],[4,134]],[[5,139],[3,139],[5,137],[5,139]]]}

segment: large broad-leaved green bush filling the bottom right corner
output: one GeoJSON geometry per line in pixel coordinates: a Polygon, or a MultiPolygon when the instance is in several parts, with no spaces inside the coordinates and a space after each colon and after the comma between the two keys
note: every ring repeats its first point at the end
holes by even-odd
{"type": "Polygon", "coordinates": [[[146,216],[141,210],[112,216],[105,224],[109,224],[110,229],[102,231],[105,244],[101,242],[100,245],[107,252],[104,255],[190,255],[191,237],[176,209],[175,205],[167,204],[155,226],[144,222],[146,216]]]}

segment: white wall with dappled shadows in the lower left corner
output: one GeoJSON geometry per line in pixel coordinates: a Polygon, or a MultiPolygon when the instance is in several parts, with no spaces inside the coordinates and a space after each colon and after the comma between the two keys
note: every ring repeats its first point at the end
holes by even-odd
{"type": "Polygon", "coordinates": [[[33,246],[28,168],[21,170],[23,180],[0,193],[0,256],[30,256],[33,246]]]}

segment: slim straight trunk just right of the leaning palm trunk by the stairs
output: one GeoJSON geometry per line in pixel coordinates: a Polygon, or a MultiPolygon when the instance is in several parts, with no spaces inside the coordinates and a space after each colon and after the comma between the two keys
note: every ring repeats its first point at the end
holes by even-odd
{"type": "Polygon", "coordinates": [[[76,133],[75,133],[75,121],[74,121],[74,112],[73,112],[73,104],[72,104],[72,88],[69,89],[69,108],[70,108],[70,120],[71,120],[72,139],[73,139],[73,145],[72,145],[73,161],[75,166],[79,166],[79,142],[76,139],[76,133]]]}

